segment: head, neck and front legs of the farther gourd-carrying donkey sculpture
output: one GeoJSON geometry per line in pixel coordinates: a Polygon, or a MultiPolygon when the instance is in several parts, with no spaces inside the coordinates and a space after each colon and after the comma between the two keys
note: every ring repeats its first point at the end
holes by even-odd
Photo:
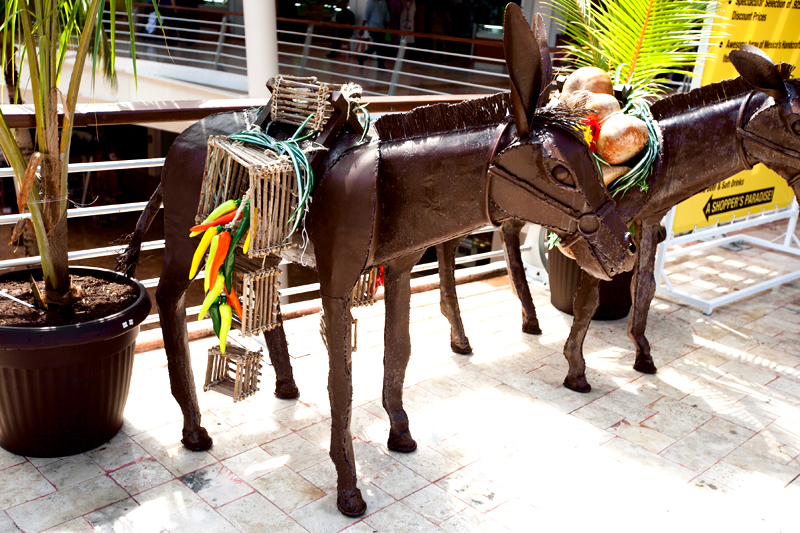
{"type": "MultiPolygon", "coordinates": [[[[656,372],[645,337],[655,294],[654,265],[661,219],[674,205],[734,174],[763,163],[800,193],[800,81],[794,67],[775,65],[758,48],[730,53],[740,77],[655,102],[650,110],[661,136],[660,165],[647,192],[629,191],[617,201],[625,222],[635,224],[637,261],[631,282],[633,310],[628,337],[636,345],[633,368],[656,372]]],[[[599,280],[583,271],[564,355],[564,385],[589,392],[583,340],[597,309],[599,280]]]]}

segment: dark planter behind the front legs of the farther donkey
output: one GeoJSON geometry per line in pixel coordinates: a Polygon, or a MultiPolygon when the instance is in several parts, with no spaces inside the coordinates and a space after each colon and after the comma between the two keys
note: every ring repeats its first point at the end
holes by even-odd
{"type": "MultiPolygon", "coordinates": [[[[550,277],[550,303],[564,313],[572,315],[572,303],[578,292],[581,268],[578,263],[558,248],[547,255],[547,272],[550,277]]],[[[600,303],[593,320],[618,320],[631,310],[631,279],[633,272],[614,276],[611,281],[600,282],[600,303]]]]}

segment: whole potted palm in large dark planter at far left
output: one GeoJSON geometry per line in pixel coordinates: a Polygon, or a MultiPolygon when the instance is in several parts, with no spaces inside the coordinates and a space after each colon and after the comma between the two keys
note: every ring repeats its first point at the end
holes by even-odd
{"type": "MultiPolygon", "coordinates": [[[[4,2],[3,60],[13,62],[14,45],[19,48],[36,114],[36,152],[26,161],[0,113],[0,148],[14,170],[18,207],[30,213],[41,256],[35,271],[0,275],[0,446],[21,455],[80,453],[119,430],[136,335],[150,310],[140,283],[110,271],[68,267],[67,172],[89,55],[94,70],[102,65],[113,83],[116,2],[110,2],[108,35],[105,5],[4,2]],[[70,56],[73,70],[64,95],[58,81],[70,56]],[[103,294],[111,294],[108,307],[103,294]]],[[[133,20],[132,0],[124,6],[133,20]]],[[[130,38],[133,51],[133,32],[130,38]]]]}

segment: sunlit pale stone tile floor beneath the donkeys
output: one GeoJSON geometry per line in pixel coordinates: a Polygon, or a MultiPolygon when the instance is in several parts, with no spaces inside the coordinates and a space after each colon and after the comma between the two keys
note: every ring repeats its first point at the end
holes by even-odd
{"type": "MultiPolygon", "coordinates": [[[[713,250],[670,268],[689,286],[697,276],[704,289],[730,288],[730,276],[699,267],[732,273],[737,257],[713,250]]],[[[800,265],[784,257],[760,268],[800,265]]],[[[352,426],[365,517],[336,511],[326,355],[309,316],[286,324],[300,400],[272,396],[268,366],[264,390],[246,401],[200,392],[208,452],[180,445],[164,352],[138,354],[111,442],[62,459],[0,451],[0,533],[800,529],[800,284],[708,317],[656,299],[655,376],[631,369],[625,320],[594,323],[585,395],[561,386],[572,319],[546,291],[533,288],[541,336],[520,333],[505,277],[459,292],[472,356],[449,351],[438,292],[412,298],[405,404],[419,449],[409,455],[385,446],[382,304],[355,312],[352,426]]],[[[198,385],[211,344],[192,344],[198,385]]]]}

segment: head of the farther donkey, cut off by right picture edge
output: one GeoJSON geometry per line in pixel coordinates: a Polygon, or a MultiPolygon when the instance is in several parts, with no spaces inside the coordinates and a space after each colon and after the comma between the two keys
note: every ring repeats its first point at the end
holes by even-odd
{"type": "Polygon", "coordinates": [[[742,78],[768,97],[758,109],[744,110],[752,116],[741,118],[739,134],[747,155],[790,185],[800,183],[800,81],[788,79],[794,67],[775,65],[750,45],[732,51],[730,59],[742,78]]]}

